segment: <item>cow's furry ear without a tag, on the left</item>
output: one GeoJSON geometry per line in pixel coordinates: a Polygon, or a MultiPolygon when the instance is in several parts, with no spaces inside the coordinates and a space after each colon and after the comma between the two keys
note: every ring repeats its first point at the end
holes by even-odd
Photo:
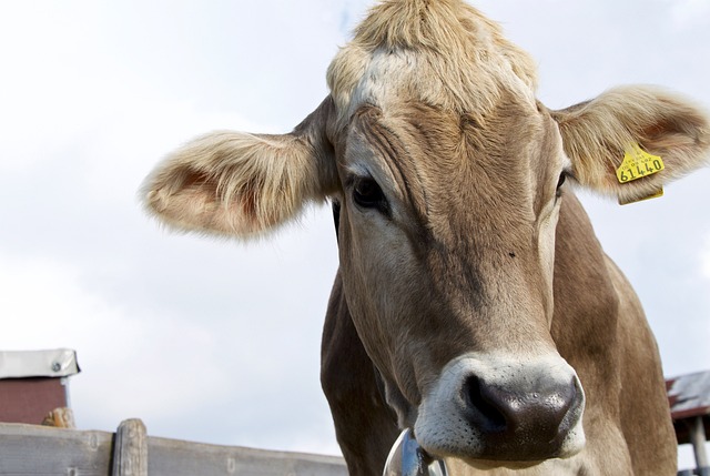
{"type": "Polygon", "coordinates": [[[170,154],[142,188],[146,209],[183,231],[250,237],[337,189],[328,97],[292,133],[214,132],[170,154]]]}

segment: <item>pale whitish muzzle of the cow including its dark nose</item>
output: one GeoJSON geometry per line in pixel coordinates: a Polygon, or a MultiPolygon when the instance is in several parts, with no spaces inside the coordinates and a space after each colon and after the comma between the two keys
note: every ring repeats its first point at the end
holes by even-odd
{"type": "Polygon", "coordinates": [[[467,460],[540,462],[585,444],[585,395],[557,354],[520,359],[467,354],[450,362],[424,398],[419,444],[467,460]]]}

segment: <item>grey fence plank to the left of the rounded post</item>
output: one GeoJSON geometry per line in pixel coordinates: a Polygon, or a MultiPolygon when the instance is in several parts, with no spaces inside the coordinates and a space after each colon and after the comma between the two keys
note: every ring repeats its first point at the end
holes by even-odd
{"type": "Polygon", "coordinates": [[[0,425],[0,475],[108,476],[113,434],[0,425]]]}

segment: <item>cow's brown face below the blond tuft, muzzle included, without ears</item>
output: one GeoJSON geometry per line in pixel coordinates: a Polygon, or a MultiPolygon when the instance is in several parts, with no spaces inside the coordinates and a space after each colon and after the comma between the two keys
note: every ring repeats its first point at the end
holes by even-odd
{"type": "Polygon", "coordinates": [[[387,399],[434,454],[575,454],[584,392],[549,332],[557,123],[531,93],[465,113],[395,93],[399,60],[365,72],[333,140],[343,285],[387,399]]]}

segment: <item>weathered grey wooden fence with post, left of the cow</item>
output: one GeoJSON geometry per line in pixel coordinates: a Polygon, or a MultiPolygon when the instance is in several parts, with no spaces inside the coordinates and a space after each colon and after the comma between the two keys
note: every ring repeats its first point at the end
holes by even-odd
{"type": "Polygon", "coordinates": [[[0,424],[0,475],[345,476],[342,458],[148,436],[140,419],[116,433],[0,424]]]}

